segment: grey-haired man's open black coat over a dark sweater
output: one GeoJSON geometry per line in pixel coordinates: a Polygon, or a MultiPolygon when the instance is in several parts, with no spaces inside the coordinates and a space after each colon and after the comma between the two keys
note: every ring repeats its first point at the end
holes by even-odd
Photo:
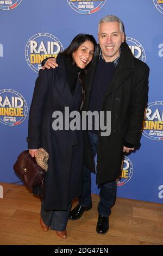
{"type": "MultiPolygon", "coordinates": [[[[86,101],[89,109],[93,76],[99,56],[86,76],[86,101]]],[[[111,134],[99,136],[97,149],[97,184],[118,178],[121,174],[123,142],[134,144],[140,141],[141,126],[148,101],[149,68],[131,53],[126,42],[121,44],[121,56],[114,77],[104,96],[102,111],[111,111],[111,134]]],[[[95,170],[92,151],[85,132],[84,162],[95,170]]]]}

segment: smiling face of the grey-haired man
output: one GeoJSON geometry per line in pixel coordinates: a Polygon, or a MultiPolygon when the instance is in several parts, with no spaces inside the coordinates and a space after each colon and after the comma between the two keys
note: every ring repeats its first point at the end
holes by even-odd
{"type": "Polygon", "coordinates": [[[124,33],[120,31],[119,23],[102,22],[99,25],[98,40],[105,61],[115,60],[120,54],[121,43],[124,42],[124,33]]]}

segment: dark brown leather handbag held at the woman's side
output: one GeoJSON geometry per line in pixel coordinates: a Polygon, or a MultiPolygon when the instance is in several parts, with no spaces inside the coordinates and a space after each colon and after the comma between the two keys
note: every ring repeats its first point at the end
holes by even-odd
{"type": "Polygon", "coordinates": [[[35,157],[29,154],[29,150],[25,150],[18,155],[13,168],[15,173],[29,188],[45,186],[46,171],[37,165],[35,157]]]}

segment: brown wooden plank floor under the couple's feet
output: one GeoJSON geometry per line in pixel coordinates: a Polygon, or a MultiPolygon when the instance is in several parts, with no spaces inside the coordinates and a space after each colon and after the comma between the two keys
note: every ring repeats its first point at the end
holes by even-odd
{"type": "MultiPolygon", "coordinates": [[[[0,245],[163,245],[163,205],[117,198],[109,217],[110,229],[96,233],[97,204],[77,221],[67,224],[67,239],[39,224],[40,201],[24,186],[0,184],[0,245]]],[[[74,203],[73,206],[77,205],[74,203]]]]}

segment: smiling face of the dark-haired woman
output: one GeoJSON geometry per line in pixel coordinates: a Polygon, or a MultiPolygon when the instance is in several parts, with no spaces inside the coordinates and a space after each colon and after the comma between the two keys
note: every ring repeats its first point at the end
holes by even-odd
{"type": "Polygon", "coordinates": [[[72,56],[77,66],[80,69],[84,69],[86,65],[91,62],[93,53],[94,45],[90,41],[85,41],[82,45],[79,46],[76,52],[73,52],[72,56]]]}

